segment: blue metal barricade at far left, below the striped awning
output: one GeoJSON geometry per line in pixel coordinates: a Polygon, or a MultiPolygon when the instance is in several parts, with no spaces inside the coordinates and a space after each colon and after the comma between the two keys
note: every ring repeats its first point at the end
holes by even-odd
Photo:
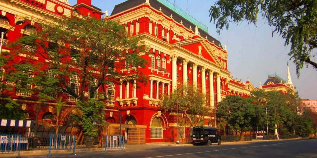
{"type": "Polygon", "coordinates": [[[0,135],[0,154],[18,153],[20,157],[21,135],[0,135]]]}

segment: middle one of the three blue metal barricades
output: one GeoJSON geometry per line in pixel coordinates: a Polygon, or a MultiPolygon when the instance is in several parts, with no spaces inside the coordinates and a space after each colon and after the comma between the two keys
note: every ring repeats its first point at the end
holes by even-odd
{"type": "Polygon", "coordinates": [[[49,138],[49,155],[51,150],[73,150],[72,155],[75,155],[76,136],[75,135],[62,135],[51,134],[49,138]]]}

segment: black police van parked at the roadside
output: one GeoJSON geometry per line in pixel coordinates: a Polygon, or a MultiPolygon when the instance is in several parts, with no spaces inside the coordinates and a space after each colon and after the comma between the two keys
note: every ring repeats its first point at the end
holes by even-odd
{"type": "Polygon", "coordinates": [[[215,127],[197,126],[193,127],[193,144],[204,143],[211,145],[211,143],[221,144],[221,136],[219,130],[215,127]]]}

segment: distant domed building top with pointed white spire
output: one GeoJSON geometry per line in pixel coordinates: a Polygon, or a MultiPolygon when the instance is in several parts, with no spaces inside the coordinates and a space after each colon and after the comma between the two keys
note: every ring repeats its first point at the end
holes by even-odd
{"type": "Polygon", "coordinates": [[[263,85],[260,86],[259,89],[263,89],[264,91],[279,91],[282,93],[287,93],[288,90],[294,91],[294,84],[291,79],[291,75],[289,73],[289,67],[287,64],[287,81],[283,80],[280,76],[276,74],[269,74],[268,79],[264,82],[263,85]]]}

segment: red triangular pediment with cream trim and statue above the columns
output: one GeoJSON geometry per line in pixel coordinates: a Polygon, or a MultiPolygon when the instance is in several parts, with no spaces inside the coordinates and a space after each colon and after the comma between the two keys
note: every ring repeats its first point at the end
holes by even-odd
{"type": "Polygon", "coordinates": [[[176,45],[222,67],[215,51],[211,48],[210,44],[205,41],[204,38],[181,41],[176,43],[176,45]]]}

